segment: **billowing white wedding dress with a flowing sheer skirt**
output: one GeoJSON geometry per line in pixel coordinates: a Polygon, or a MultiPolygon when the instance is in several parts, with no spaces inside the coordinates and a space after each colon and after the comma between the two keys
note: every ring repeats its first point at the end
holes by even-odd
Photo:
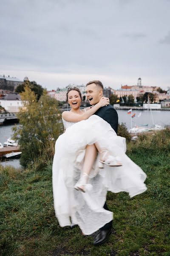
{"type": "Polygon", "coordinates": [[[87,120],[73,123],[63,119],[65,133],[55,144],[53,160],[54,209],[61,227],[78,224],[85,235],[94,233],[113,219],[113,212],[103,208],[107,191],[125,191],[130,197],[141,194],[147,187],[146,174],[125,154],[125,138],[117,136],[105,120],[92,115],[87,120]],[[93,188],[85,193],[74,189],[79,179],[85,147],[98,142],[113,155],[120,157],[121,167],[94,163],[88,183],[93,188]]]}

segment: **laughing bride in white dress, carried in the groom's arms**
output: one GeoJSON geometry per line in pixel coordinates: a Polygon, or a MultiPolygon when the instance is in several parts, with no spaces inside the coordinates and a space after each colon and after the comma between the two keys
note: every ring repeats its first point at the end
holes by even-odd
{"type": "Polygon", "coordinates": [[[60,226],[72,222],[89,235],[113,219],[113,213],[103,208],[107,191],[125,191],[133,197],[147,188],[145,173],[125,154],[125,138],[94,115],[109,99],[102,97],[84,110],[81,101],[79,89],[69,88],[71,111],[62,113],[65,132],[55,144],[53,195],[60,226]]]}

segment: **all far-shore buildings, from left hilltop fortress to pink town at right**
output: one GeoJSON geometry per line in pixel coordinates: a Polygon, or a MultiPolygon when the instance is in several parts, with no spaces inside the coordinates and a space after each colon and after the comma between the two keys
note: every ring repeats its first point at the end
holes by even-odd
{"type": "MultiPolygon", "coordinates": [[[[0,97],[0,106],[5,108],[6,111],[14,113],[18,112],[19,109],[22,107],[20,95],[18,93],[14,93],[14,90],[18,85],[23,84],[24,81],[29,81],[28,77],[25,77],[23,81],[21,81],[15,77],[0,76],[0,96],[3,96],[0,97]]],[[[68,87],[78,87],[82,93],[83,101],[87,101],[87,96],[85,92],[86,87],[84,84],[68,84],[68,86],[65,88],[57,88],[57,90],[48,91],[48,95],[52,98],[57,99],[60,102],[65,102],[68,87]]],[[[154,94],[154,102],[161,102],[162,107],[170,107],[170,90],[168,90],[167,93],[159,93],[157,89],[158,87],[142,86],[142,80],[141,78],[139,78],[137,85],[124,85],[117,90],[114,90],[111,87],[105,87],[104,96],[110,97],[112,94],[115,94],[118,98],[120,98],[123,96],[133,95],[134,100],[136,101],[136,97],[144,95],[145,92],[150,92],[154,94]]]]}

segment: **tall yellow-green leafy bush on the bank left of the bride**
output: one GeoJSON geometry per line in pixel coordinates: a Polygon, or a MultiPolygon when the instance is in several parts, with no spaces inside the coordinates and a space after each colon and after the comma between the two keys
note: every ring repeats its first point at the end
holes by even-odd
{"type": "Polygon", "coordinates": [[[45,90],[37,101],[35,93],[26,86],[21,99],[23,108],[17,113],[20,125],[13,129],[14,139],[22,151],[20,163],[26,167],[43,153],[49,140],[57,140],[62,133],[62,122],[57,100],[48,96],[45,90]]]}

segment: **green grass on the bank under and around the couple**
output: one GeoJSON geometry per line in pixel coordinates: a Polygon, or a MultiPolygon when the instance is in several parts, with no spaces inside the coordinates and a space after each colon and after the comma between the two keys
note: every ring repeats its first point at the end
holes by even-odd
{"type": "Polygon", "coordinates": [[[78,227],[59,227],[50,162],[40,171],[1,166],[0,255],[170,256],[170,131],[142,135],[127,154],[146,172],[148,189],[132,199],[108,192],[113,233],[100,247],[78,227]]]}

